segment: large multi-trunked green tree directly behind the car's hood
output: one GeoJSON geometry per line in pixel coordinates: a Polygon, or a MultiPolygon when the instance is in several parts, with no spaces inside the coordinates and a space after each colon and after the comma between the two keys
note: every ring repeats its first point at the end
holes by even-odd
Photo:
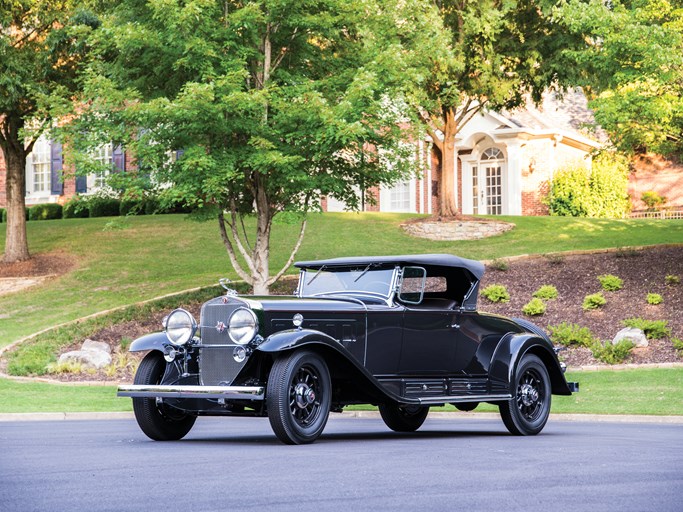
{"type": "Polygon", "coordinates": [[[355,208],[359,188],[414,167],[388,94],[399,76],[394,52],[376,37],[382,13],[374,0],[117,3],[96,35],[74,147],[114,140],[133,149],[140,174],[171,185],[167,199],[217,219],[235,271],[267,293],[321,196],[355,208]],[[278,214],[302,222],[271,276],[278,214]]]}

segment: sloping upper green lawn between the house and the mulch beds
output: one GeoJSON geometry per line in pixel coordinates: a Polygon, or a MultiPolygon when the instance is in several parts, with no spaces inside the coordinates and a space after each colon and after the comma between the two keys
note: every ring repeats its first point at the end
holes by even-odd
{"type": "MultiPolygon", "coordinates": [[[[518,254],[683,243],[680,220],[601,220],[502,217],[516,228],[478,241],[436,242],[410,237],[400,223],[415,215],[312,215],[299,259],[346,255],[445,252],[474,259],[518,254]]],[[[43,285],[0,296],[0,347],[49,326],[165,293],[236,278],[214,222],[183,215],[131,217],[126,229],[106,230],[111,218],[28,223],[33,253],[62,251],[78,266],[43,285]]],[[[5,224],[0,224],[0,250],[5,224]]],[[[271,268],[287,259],[298,226],[278,224],[271,268]]],[[[290,269],[291,270],[291,269],[290,269]]],[[[291,270],[293,272],[293,270],[291,270]]]]}

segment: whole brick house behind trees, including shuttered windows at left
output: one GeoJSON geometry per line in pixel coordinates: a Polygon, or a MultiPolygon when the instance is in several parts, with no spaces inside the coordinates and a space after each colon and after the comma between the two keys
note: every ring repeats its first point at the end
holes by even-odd
{"type": "MultiPolygon", "coordinates": [[[[437,213],[442,172],[455,174],[457,208],[463,214],[544,215],[543,197],[553,174],[567,165],[590,165],[591,153],[604,142],[604,135],[589,137],[583,133],[593,124],[592,113],[581,92],[558,98],[545,95],[541,105],[531,103],[510,112],[484,111],[470,120],[458,133],[458,158],[454,169],[440,169],[436,149],[429,138],[419,141],[416,152],[421,175],[391,188],[372,190],[374,203],[363,203],[366,211],[437,213]]],[[[95,158],[111,163],[113,172],[134,168],[131,155],[111,144],[102,146],[95,158]]],[[[74,194],[98,190],[105,176],[74,177],[63,172],[62,147],[41,137],[26,163],[26,204],[64,203],[74,194]]],[[[641,173],[642,174],[642,173],[641,173]]],[[[683,172],[674,176],[683,189],[683,172]]],[[[662,183],[674,202],[683,193],[672,196],[671,180],[662,183]]],[[[656,190],[657,176],[632,175],[632,195],[639,208],[640,192],[656,190]],[[654,176],[654,177],[653,177],[654,176]],[[634,185],[635,183],[635,185],[634,185]],[[636,197],[637,195],[637,197],[636,197]]],[[[667,195],[662,194],[662,195],[667,195]]],[[[670,203],[671,204],[671,203],[670,203]]],[[[0,152],[0,207],[5,207],[5,165],[0,152]]],[[[334,198],[324,198],[326,211],[343,211],[345,205],[334,198]]]]}

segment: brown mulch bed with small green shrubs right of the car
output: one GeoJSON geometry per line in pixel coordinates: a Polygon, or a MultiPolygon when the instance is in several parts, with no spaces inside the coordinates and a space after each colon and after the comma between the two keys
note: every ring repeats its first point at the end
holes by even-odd
{"type": "MultiPolygon", "coordinates": [[[[491,266],[490,266],[491,267],[491,266]]],[[[489,284],[502,284],[510,293],[510,302],[491,303],[480,297],[479,309],[505,316],[524,317],[522,307],[543,285],[553,285],[559,297],[547,302],[546,313],[524,317],[547,329],[561,322],[588,327],[601,340],[611,340],[624,326],[627,318],[666,320],[673,337],[683,338],[683,283],[667,285],[665,277],[677,275],[683,280],[683,246],[656,247],[638,251],[575,256],[538,257],[509,263],[509,269],[487,268],[481,289],[489,284]],[[602,291],[598,276],[613,274],[623,279],[621,290],[602,291]],[[598,310],[584,311],[583,299],[602,291],[607,304],[598,310]],[[651,306],[648,293],[659,293],[664,302],[651,306]]],[[[561,352],[561,358],[571,366],[601,364],[587,348],[572,348],[561,352]]],[[[645,348],[634,349],[626,363],[683,362],[671,340],[650,340],[645,348]]]]}

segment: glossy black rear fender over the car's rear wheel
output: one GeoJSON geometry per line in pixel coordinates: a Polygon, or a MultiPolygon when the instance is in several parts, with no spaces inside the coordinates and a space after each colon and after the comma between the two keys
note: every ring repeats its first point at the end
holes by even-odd
{"type": "MultiPolygon", "coordinates": [[[[517,364],[527,353],[538,356],[545,364],[554,395],[572,394],[552,344],[546,339],[528,333],[508,333],[503,336],[491,359],[490,378],[506,384],[514,382],[517,364]]],[[[511,389],[513,394],[514,391],[511,389]]]]}

